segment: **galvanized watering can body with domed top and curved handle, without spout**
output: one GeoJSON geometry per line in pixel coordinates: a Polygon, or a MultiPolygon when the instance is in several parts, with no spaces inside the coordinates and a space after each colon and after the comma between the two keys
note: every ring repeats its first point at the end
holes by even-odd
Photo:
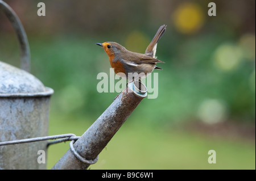
{"type": "MultiPolygon", "coordinates": [[[[28,73],[30,49],[18,16],[2,0],[0,11],[5,12],[18,35],[23,69],[0,61],[0,142],[47,136],[53,90],[28,73]]],[[[39,150],[47,152],[47,141],[0,146],[0,170],[46,169],[46,164],[38,162],[39,150]]]]}

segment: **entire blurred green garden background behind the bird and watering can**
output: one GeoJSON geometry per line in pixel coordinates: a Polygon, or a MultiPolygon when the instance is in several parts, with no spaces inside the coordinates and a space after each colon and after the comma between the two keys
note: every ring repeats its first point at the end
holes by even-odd
{"type": "MultiPolygon", "coordinates": [[[[55,90],[49,135],[80,136],[119,92],[98,93],[116,41],[143,53],[162,24],[157,99],[144,99],[90,169],[255,169],[255,1],[5,1],[31,48],[31,73],[55,90]],[[217,163],[208,163],[215,150],[217,163]]],[[[0,59],[19,66],[13,27],[0,12],[0,59]]],[[[69,144],[51,146],[48,169],[69,144]]]]}

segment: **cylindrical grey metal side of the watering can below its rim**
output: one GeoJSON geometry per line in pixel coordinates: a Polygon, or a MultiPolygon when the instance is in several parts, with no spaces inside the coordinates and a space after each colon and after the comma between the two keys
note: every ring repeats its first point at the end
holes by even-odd
{"type": "MultiPolygon", "coordinates": [[[[49,96],[0,97],[0,140],[20,140],[48,135],[49,96]]],[[[0,169],[46,169],[37,162],[38,150],[47,153],[47,141],[0,146],[0,169]]]]}

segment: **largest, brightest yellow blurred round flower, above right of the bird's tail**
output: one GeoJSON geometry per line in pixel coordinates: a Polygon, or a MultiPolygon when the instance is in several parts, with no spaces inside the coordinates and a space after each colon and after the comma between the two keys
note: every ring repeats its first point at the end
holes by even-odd
{"type": "Polygon", "coordinates": [[[204,24],[203,10],[196,3],[181,3],[172,16],[177,31],[192,34],[204,24]]]}

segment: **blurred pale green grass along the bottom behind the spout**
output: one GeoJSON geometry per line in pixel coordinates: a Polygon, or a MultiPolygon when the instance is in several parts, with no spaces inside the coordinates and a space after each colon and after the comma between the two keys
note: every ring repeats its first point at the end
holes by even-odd
{"type": "MultiPolygon", "coordinates": [[[[49,135],[81,136],[91,120],[51,114],[49,135]]],[[[255,144],[242,139],[202,137],[181,129],[160,129],[127,119],[90,169],[255,169],[255,144]],[[208,151],[216,151],[216,164],[208,151]]],[[[48,169],[69,149],[69,142],[48,149],[48,169]]]]}

